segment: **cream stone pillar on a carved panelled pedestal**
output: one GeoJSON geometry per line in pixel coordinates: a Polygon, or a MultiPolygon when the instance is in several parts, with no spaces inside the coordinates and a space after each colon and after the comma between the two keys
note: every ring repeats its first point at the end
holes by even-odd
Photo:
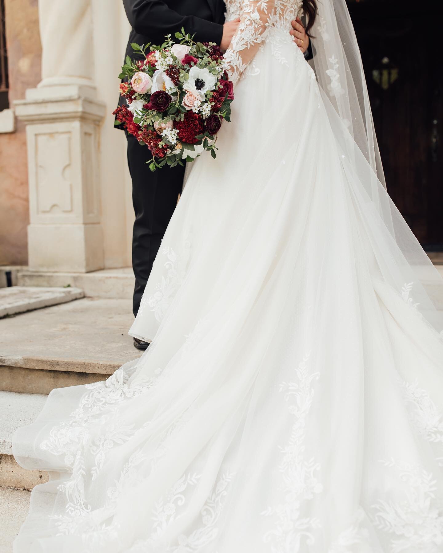
{"type": "Polygon", "coordinates": [[[104,267],[91,0],[39,0],[42,82],[15,102],[27,126],[29,268],[104,267]]]}

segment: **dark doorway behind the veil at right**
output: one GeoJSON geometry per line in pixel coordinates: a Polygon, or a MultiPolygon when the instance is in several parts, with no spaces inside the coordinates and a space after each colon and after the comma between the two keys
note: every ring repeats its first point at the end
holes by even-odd
{"type": "Polygon", "coordinates": [[[443,251],[439,4],[348,1],[388,192],[427,251],[443,251]]]}

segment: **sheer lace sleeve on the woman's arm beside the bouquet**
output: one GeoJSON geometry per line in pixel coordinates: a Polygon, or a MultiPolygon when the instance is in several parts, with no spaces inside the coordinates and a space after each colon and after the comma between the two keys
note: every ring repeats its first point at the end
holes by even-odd
{"type": "Polygon", "coordinates": [[[227,71],[234,82],[239,80],[265,40],[275,0],[237,0],[236,3],[240,8],[240,24],[225,54],[227,71]]]}

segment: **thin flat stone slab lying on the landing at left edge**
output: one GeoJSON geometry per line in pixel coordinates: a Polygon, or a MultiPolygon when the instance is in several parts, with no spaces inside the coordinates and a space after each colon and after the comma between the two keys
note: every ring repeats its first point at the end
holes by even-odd
{"type": "Polygon", "coordinates": [[[79,288],[34,288],[11,286],[0,289],[0,319],[34,309],[63,304],[84,297],[79,288]]]}

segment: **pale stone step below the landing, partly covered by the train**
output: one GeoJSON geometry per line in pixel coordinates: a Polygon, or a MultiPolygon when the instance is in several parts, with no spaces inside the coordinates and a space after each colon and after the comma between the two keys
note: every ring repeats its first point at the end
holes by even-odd
{"type": "Polygon", "coordinates": [[[46,398],[41,394],[0,392],[0,486],[32,489],[48,480],[48,473],[27,471],[17,465],[12,455],[14,432],[37,418],[46,398]]]}

